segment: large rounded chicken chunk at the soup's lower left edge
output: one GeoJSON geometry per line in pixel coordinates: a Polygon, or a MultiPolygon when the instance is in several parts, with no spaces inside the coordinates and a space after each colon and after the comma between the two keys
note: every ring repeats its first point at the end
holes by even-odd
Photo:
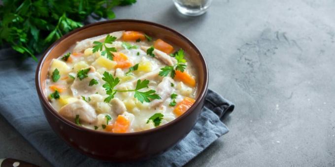
{"type": "Polygon", "coordinates": [[[70,121],[74,121],[76,115],[79,115],[80,121],[87,123],[92,123],[97,119],[97,114],[94,108],[84,100],[68,103],[59,110],[59,114],[70,121]]]}

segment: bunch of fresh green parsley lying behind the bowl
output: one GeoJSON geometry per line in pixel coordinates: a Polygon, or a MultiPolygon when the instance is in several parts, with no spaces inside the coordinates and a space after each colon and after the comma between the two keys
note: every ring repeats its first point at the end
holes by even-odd
{"type": "Polygon", "coordinates": [[[87,16],[115,18],[112,7],[136,0],[2,0],[0,45],[24,57],[43,52],[67,32],[83,26],[87,16]]]}

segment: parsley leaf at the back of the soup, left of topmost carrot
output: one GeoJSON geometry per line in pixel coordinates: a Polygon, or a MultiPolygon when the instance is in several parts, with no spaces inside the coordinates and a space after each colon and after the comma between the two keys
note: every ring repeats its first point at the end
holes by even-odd
{"type": "Polygon", "coordinates": [[[115,36],[110,36],[109,34],[106,36],[105,40],[103,42],[99,42],[99,41],[94,41],[93,44],[93,53],[96,53],[98,51],[102,51],[102,48],[104,47],[105,50],[101,52],[102,56],[107,56],[107,58],[109,58],[110,60],[113,60],[113,54],[112,52],[117,52],[116,48],[114,47],[110,47],[108,48],[106,46],[106,44],[112,44],[114,41],[116,40],[115,36]]]}

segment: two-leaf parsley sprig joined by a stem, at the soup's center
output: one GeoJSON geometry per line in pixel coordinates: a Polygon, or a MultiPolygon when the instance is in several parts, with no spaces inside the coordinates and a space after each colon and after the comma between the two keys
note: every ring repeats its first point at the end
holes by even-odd
{"type": "Polygon", "coordinates": [[[105,88],[106,94],[109,95],[107,98],[104,99],[104,102],[109,103],[110,100],[114,98],[116,92],[131,92],[134,91],[134,98],[136,98],[141,103],[150,102],[150,99],[161,99],[161,97],[156,94],[155,90],[148,90],[146,92],[140,92],[139,90],[142,88],[148,88],[149,80],[137,80],[136,88],[133,90],[116,90],[114,87],[120,82],[119,78],[113,78],[113,75],[109,74],[107,71],[103,73],[102,80],[105,81],[102,87],[105,88]]]}

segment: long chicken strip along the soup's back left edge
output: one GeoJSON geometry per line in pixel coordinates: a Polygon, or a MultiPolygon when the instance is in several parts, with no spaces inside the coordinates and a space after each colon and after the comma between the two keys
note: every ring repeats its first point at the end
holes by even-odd
{"type": "MultiPolygon", "coordinates": [[[[124,31],[116,31],[116,32],[112,32],[109,33],[110,36],[115,36],[116,39],[121,38],[122,34],[124,31]]],[[[94,41],[99,41],[99,42],[103,42],[104,39],[106,38],[107,34],[103,34],[103,35],[99,35],[96,37],[92,37],[92,38],[87,38],[84,39],[80,42],[77,42],[77,45],[73,48],[72,52],[76,53],[76,52],[83,52],[85,49],[87,48],[91,48],[94,46],[93,42],[94,41]]]]}

